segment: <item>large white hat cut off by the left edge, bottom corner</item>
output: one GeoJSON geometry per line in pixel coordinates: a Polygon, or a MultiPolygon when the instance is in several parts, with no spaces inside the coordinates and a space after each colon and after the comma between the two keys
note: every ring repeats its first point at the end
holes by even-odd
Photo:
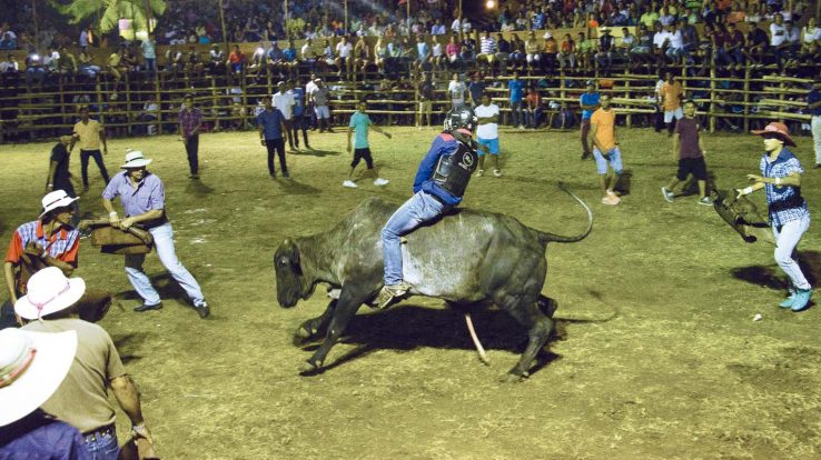
{"type": "Polygon", "coordinates": [[[77,332],[0,330],[0,427],[42,406],[68,374],[77,332]]]}

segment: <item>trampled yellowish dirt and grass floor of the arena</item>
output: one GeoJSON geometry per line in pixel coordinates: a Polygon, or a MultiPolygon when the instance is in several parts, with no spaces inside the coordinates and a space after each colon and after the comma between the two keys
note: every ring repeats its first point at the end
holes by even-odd
{"type": "MultiPolygon", "coordinates": [[[[524,339],[498,311],[474,316],[491,367],[479,363],[461,316],[413,298],[379,313],[363,307],[316,377],[300,377],[311,347],[291,333],[327,304],[324,289],[296,308],[276,302],[271,257],[288,236],[332,227],[369,197],[406,199],[435,129],[372,132],[379,189],[342,182],[345,134],[311,136],[317,150],[289,154],[291,180],[273,181],[255,132],[206,134],[201,180],[187,179],[175,137],[110,140],[116,171],[126,148],[154,158],[166,183],[177,252],[211,304],[200,320],[165,277],[149,274],[166,308],[138,303],[122,260],[83,241],[77,276],[110,288],[102,326],[142,391],[146,420],[164,459],[699,459],[821,457],[821,309],[780,311],[784,277],[766,243],[745,244],[712,208],[685,197],[669,204],[660,187],[674,173],[670,141],[622,130],[632,193],[605,207],[577,133],[503,129],[504,177],[471,182],[464,204],[504,212],[547,231],[574,234],[581,207],[593,233],[547,250],[544,293],[555,298],[558,337],[545,366],[518,384],[498,381],[524,339]],[[175,300],[177,299],[177,300],[175,300]],[[761,313],[761,321],[753,317],[761,313]]],[[[803,194],[821,216],[821,172],[809,169],[811,140],[795,149],[803,194]]],[[[720,187],[745,184],[762,151],[752,136],[706,136],[720,187]]],[[[50,143],[2,146],[0,232],[37,217],[50,143]]],[[[72,159],[79,176],[79,158],[72,159]]],[[[91,166],[83,211],[102,213],[91,166]]],[[[763,193],[755,197],[763,203],[763,193]]],[[[821,279],[818,223],[799,247],[811,280],[821,279]]],[[[444,251],[447,248],[443,248],[444,251]]],[[[127,418],[118,418],[121,438],[127,418]]]]}

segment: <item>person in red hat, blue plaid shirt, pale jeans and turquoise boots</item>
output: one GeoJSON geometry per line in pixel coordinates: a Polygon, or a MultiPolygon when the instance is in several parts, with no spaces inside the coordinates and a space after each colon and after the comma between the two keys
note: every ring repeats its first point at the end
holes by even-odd
{"type": "Polygon", "coordinates": [[[810,210],[801,197],[801,162],[785,147],[795,147],[790,131],[783,123],[772,122],[761,131],[752,131],[764,138],[766,152],[761,158],[761,174],[748,174],[752,186],[739,190],[739,197],[764,189],[770,226],[775,236],[775,262],[790,278],[790,297],[781,308],[804,310],[812,297],[812,286],[807,281],[792,254],[801,237],[810,228],[810,210]]]}

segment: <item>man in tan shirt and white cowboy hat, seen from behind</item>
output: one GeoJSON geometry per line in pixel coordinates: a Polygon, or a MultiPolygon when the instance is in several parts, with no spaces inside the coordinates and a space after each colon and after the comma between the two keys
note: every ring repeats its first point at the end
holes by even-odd
{"type": "Polygon", "coordinates": [[[80,430],[91,458],[116,460],[120,446],[109,387],[131,421],[132,436],[149,443],[154,440],[142,418],[139,390],[126,373],[111,337],[101,327],[79,319],[75,304],[85,291],[81,278],[67,278],[57,268],[47,268],[31,277],[28,293],[18,300],[14,311],[30,321],[23,331],[77,334],[77,353],[68,377],[42,409],[80,430]]]}

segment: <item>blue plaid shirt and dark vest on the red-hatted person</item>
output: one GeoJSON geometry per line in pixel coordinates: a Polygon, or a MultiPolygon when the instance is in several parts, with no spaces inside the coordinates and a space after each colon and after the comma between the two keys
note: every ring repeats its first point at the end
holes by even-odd
{"type": "MultiPolygon", "coordinates": [[[[801,168],[801,161],[787,147],[781,150],[774,161],[771,161],[769,156],[764,153],[760,167],[761,174],[765,178],[785,178],[794,172],[799,174],[804,172],[801,168]]],[[[766,191],[771,224],[781,227],[787,222],[809,216],[810,210],[807,207],[807,201],[801,197],[800,188],[777,187],[774,183],[768,183],[764,190],[766,191]]]]}

